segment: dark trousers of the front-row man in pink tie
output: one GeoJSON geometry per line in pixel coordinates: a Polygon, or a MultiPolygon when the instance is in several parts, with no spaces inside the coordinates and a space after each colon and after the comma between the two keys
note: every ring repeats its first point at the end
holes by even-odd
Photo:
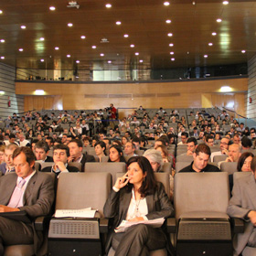
{"type": "Polygon", "coordinates": [[[33,229],[30,224],[0,217],[0,255],[4,255],[6,245],[33,243],[33,229]]]}

